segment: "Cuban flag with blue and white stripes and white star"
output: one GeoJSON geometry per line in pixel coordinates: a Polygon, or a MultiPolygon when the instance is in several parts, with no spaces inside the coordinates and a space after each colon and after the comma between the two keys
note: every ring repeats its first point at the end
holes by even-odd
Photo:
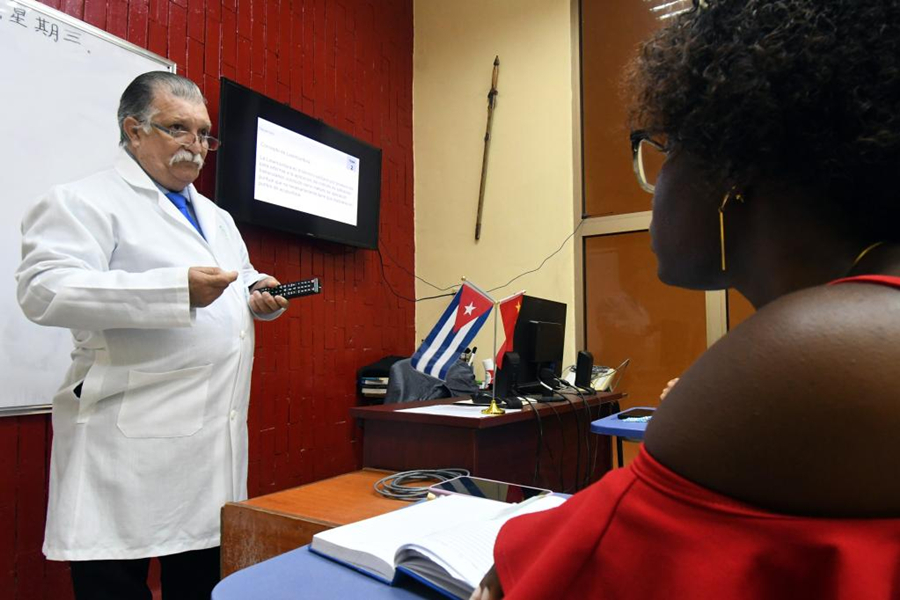
{"type": "Polygon", "coordinates": [[[447,371],[475,338],[493,307],[494,300],[490,296],[469,283],[463,283],[431,333],[413,354],[413,368],[432,377],[446,379],[447,371]]]}

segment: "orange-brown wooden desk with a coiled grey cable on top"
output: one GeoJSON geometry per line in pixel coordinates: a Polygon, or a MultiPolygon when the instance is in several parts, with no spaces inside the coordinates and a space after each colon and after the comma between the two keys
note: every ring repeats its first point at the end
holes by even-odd
{"type": "Polygon", "coordinates": [[[222,507],[222,577],[305,546],[320,531],[409,503],[375,492],[388,471],[363,469],[222,507]]]}

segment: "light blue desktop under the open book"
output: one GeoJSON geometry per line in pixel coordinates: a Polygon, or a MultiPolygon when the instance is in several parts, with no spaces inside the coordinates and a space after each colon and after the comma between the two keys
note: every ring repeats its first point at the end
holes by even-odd
{"type": "Polygon", "coordinates": [[[446,600],[409,577],[392,587],[309,551],[308,546],[232,573],[219,582],[212,600],[304,600],[366,598],[446,600]]]}

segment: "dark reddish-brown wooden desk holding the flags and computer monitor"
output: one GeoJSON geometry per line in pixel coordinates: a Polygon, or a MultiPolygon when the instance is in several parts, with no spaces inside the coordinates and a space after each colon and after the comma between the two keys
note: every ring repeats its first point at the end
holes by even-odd
{"type": "Polygon", "coordinates": [[[402,412],[416,406],[451,404],[454,399],[358,406],[351,408],[350,414],[360,419],[363,427],[364,467],[392,471],[461,467],[478,477],[574,491],[576,480],[580,481],[588,468],[585,439],[597,446],[590,480],[596,481],[612,468],[609,438],[589,434],[588,427],[591,421],[610,414],[622,396],[599,393],[583,401],[574,395],[569,396],[572,404],[539,404],[540,429],[528,405],[521,412],[485,419],[402,412]],[[540,472],[533,481],[541,430],[540,472]],[[579,440],[580,475],[576,476],[579,440]]]}

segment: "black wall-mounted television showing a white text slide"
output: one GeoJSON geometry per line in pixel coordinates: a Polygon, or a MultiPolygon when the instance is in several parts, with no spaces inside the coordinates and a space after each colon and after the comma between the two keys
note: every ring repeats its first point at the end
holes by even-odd
{"type": "Polygon", "coordinates": [[[222,78],[216,203],[237,221],[378,247],[381,149],[222,78]]]}

